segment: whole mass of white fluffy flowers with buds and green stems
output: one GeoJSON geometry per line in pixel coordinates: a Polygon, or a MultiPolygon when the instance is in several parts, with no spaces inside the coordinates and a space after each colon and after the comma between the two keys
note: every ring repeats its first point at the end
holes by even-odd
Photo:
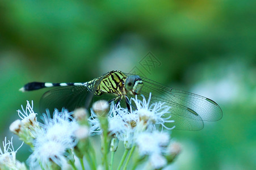
{"type": "MultiPolygon", "coordinates": [[[[56,109],[52,117],[49,112],[43,114],[42,123],[37,121],[33,102],[30,105],[27,101],[26,108],[22,107],[22,111],[18,111],[22,120],[14,121],[10,130],[31,147],[33,152],[28,158],[31,169],[64,169],[66,165],[75,169],[75,157],[79,159],[82,169],[85,168],[84,157],[90,168],[96,169],[97,156],[94,143],[90,142],[90,136],[95,134],[101,134],[102,140],[100,143],[104,159],[100,166],[104,165],[106,169],[108,168],[108,151],[111,151],[111,161],[113,161],[118,143],[123,141],[124,156],[130,151],[124,169],[127,168],[135,148],[139,155],[137,163],[143,163],[144,161],[141,160],[146,158],[148,160],[146,167],[161,169],[171,163],[179,153],[179,149],[174,152],[173,147],[170,147],[170,135],[163,131],[174,128],[174,126],[172,128],[165,126],[166,123],[170,125],[174,122],[171,120],[170,107],[161,102],[152,103],[151,93],[148,100],[144,96],[142,100],[138,98],[136,96],[131,100],[127,99],[130,103],[129,109],[122,108],[120,103],[114,104],[114,102],[108,109],[107,101],[97,101],[91,109],[89,118],[88,112],[82,108],[76,109],[74,114],[65,109],[61,112],[56,109]]],[[[9,167],[18,166],[19,162],[15,162],[16,151],[12,147],[12,141],[5,141],[3,147],[4,151],[0,150],[0,169],[4,169],[1,168],[1,163],[4,162],[3,160],[6,162],[7,158],[10,158],[7,164],[9,167]]],[[[124,160],[125,157],[121,159],[118,169],[121,168],[124,160]]],[[[113,162],[110,165],[112,164],[113,162]]],[[[20,167],[22,165],[24,164],[20,167]]]]}

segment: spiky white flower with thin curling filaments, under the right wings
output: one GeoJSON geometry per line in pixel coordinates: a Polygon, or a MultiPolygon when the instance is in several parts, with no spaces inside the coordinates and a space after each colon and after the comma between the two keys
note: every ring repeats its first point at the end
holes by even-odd
{"type": "Polygon", "coordinates": [[[146,98],[142,96],[142,101],[135,96],[135,99],[132,99],[136,105],[136,112],[140,117],[140,120],[146,124],[147,129],[156,129],[156,125],[161,125],[167,130],[173,128],[168,128],[164,124],[174,122],[170,120],[171,116],[166,117],[165,114],[170,113],[169,110],[171,107],[162,103],[153,103],[150,105],[151,93],[149,94],[149,99],[146,101],[146,98]]]}

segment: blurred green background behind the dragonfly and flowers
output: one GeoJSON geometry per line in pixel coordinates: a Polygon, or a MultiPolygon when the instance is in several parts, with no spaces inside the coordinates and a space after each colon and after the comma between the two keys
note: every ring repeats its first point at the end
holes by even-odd
{"type": "MultiPolygon", "coordinates": [[[[173,131],[183,150],[170,169],[254,169],[255,11],[255,1],[238,0],[1,0],[0,139],[11,137],[9,125],[26,100],[39,108],[43,90],[19,92],[25,83],[85,82],[136,69],[223,109],[222,120],[203,130],[173,131]]],[[[15,148],[20,143],[15,138],[15,148]]],[[[17,156],[29,154],[24,145],[17,156]]]]}

